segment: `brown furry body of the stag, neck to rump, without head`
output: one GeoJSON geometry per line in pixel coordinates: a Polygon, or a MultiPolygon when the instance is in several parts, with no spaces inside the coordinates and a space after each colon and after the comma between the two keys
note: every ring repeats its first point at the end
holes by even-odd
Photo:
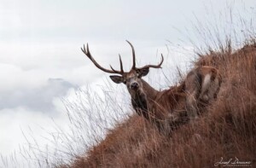
{"type": "MultiPolygon", "coordinates": [[[[214,67],[195,67],[186,77],[185,81],[177,86],[172,86],[169,90],[154,90],[143,79],[137,78],[140,84],[140,92],[135,97],[136,92],[130,91],[131,101],[134,109],[139,115],[143,115],[160,130],[172,130],[177,125],[187,123],[189,118],[197,117],[198,103],[203,101],[205,104],[214,99],[221,84],[221,76],[214,67]],[[210,81],[205,81],[209,75],[210,81]],[[204,84],[204,83],[208,84],[204,84]],[[201,86],[205,85],[204,92],[201,86]],[[207,100],[200,100],[200,97],[207,96],[207,100]],[[139,107],[135,100],[143,100],[145,106],[139,107]],[[192,100],[192,101],[191,101],[192,100]]],[[[129,90],[129,89],[128,89],[129,90]]]]}

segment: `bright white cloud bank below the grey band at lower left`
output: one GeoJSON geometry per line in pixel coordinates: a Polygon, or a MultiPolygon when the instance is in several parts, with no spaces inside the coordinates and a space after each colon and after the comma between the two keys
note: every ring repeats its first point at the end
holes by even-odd
{"type": "MultiPolygon", "coordinates": [[[[65,113],[59,112],[58,115],[55,115],[55,122],[63,125],[64,129],[65,122],[67,122],[65,113]]],[[[15,151],[19,153],[19,147],[23,148],[26,147],[24,145],[28,145],[22,131],[30,140],[32,137],[29,132],[33,132],[33,137],[38,141],[38,144],[44,147],[49,143],[44,137],[47,137],[47,133],[54,130],[51,118],[44,113],[28,110],[26,107],[3,109],[0,111],[1,154],[9,156],[15,151]]]]}

